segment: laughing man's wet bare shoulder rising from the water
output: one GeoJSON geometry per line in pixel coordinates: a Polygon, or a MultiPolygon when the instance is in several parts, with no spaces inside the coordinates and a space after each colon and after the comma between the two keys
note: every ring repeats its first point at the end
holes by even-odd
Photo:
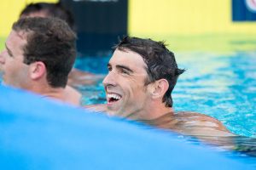
{"type": "Polygon", "coordinates": [[[175,114],[177,120],[183,122],[183,126],[188,128],[189,131],[201,133],[202,135],[220,135],[220,136],[232,136],[234,134],[224,126],[224,124],[212,116],[205,114],[180,111],[175,114]]]}

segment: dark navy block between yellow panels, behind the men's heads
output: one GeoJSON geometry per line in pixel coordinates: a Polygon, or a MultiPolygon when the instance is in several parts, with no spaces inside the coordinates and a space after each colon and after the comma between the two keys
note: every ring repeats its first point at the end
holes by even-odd
{"type": "Polygon", "coordinates": [[[127,34],[127,0],[61,0],[61,5],[73,14],[83,55],[108,55],[118,37],[127,34]]]}

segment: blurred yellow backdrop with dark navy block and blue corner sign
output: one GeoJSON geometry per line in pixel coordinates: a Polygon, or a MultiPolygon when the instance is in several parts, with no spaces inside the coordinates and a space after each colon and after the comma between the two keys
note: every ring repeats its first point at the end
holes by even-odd
{"type": "MultiPolygon", "coordinates": [[[[0,49],[28,3],[2,0],[0,49]]],[[[61,0],[73,13],[84,55],[108,55],[126,34],[165,40],[175,52],[256,49],[256,0],[61,0]]]]}

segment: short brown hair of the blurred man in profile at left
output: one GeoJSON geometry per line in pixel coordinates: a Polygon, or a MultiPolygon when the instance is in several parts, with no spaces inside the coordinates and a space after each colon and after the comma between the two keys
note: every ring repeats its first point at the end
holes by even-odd
{"type": "Polygon", "coordinates": [[[65,88],[76,58],[76,35],[63,20],[28,17],[16,21],[13,31],[24,34],[24,63],[42,61],[47,81],[53,88],[65,88]]]}

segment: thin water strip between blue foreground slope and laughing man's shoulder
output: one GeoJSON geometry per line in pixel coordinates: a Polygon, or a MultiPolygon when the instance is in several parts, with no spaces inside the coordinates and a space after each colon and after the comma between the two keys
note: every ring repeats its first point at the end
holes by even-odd
{"type": "MultiPolygon", "coordinates": [[[[140,124],[138,124],[140,125],[140,124]]],[[[143,127],[143,126],[142,126],[143,127]]],[[[146,126],[146,130],[158,130],[153,126],[146,126]]],[[[176,133],[168,129],[163,129],[166,133],[176,133]]],[[[217,150],[225,156],[233,159],[240,159],[247,164],[256,167],[256,139],[245,136],[203,136],[203,135],[183,135],[176,133],[177,139],[182,139],[184,143],[206,146],[212,150],[217,150]]],[[[172,136],[173,138],[173,136],[172,136]]]]}

